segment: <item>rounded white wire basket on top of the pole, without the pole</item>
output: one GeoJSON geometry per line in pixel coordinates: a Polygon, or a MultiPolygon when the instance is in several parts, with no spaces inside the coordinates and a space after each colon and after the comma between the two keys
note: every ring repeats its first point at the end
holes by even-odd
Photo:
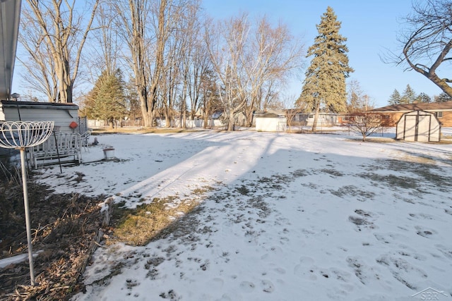
{"type": "Polygon", "coordinates": [[[0,147],[40,145],[49,138],[53,129],[54,121],[0,121],[0,147]]]}

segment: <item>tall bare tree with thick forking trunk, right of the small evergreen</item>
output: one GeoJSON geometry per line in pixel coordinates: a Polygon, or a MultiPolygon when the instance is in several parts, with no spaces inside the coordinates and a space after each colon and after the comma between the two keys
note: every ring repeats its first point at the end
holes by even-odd
{"type": "Polygon", "coordinates": [[[168,110],[173,109],[174,91],[180,80],[180,54],[183,54],[179,37],[186,25],[182,18],[186,16],[184,11],[195,2],[114,2],[120,20],[117,27],[129,48],[127,61],[133,70],[145,127],[153,126],[159,101],[168,110]]]}

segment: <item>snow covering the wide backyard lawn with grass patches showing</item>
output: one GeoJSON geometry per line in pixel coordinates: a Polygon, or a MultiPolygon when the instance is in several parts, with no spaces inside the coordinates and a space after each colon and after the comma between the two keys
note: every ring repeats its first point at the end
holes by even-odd
{"type": "Polygon", "coordinates": [[[92,163],[40,180],[129,207],[216,190],[166,238],[99,248],[73,300],[452,298],[451,145],[251,131],[97,139],[83,152],[92,163]],[[98,161],[106,146],[117,160],[98,161]]]}

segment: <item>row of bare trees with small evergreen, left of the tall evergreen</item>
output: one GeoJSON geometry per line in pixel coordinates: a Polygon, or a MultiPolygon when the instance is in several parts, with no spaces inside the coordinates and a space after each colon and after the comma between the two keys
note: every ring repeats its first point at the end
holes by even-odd
{"type": "Polygon", "coordinates": [[[110,123],[184,127],[221,111],[229,130],[239,114],[251,125],[304,60],[285,24],[213,20],[200,0],[25,0],[22,11],[25,85],[110,123]]]}

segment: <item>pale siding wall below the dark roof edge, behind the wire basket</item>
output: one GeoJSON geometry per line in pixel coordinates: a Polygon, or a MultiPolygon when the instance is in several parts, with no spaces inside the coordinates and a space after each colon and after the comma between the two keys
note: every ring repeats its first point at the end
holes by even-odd
{"type": "Polygon", "coordinates": [[[39,106],[0,106],[0,121],[54,121],[54,127],[62,132],[72,133],[71,122],[78,123],[78,106],[71,108],[39,106]],[[20,115],[20,118],[19,118],[20,115]]]}

